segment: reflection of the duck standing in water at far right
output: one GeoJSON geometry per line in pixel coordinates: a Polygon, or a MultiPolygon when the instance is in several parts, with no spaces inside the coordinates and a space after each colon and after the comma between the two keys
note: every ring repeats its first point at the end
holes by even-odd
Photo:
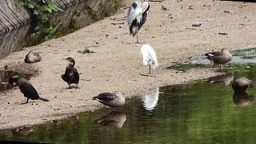
{"type": "Polygon", "coordinates": [[[250,106],[254,102],[254,96],[248,95],[245,91],[243,92],[234,92],[233,102],[236,106],[245,107],[250,106]]]}

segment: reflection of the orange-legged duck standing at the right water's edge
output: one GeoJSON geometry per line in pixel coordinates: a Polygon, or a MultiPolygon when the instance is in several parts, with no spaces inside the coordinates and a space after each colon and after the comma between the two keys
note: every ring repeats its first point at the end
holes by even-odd
{"type": "Polygon", "coordinates": [[[233,79],[234,79],[234,74],[230,73],[230,74],[218,75],[216,77],[211,77],[211,78],[208,78],[206,81],[229,86],[230,82],[233,81],[233,79]]]}

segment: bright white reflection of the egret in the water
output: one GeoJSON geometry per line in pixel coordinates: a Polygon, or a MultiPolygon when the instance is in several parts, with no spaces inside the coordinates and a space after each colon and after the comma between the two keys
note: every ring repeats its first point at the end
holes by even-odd
{"type": "Polygon", "coordinates": [[[154,110],[158,105],[159,87],[150,90],[150,94],[142,96],[143,106],[146,110],[154,110]]]}

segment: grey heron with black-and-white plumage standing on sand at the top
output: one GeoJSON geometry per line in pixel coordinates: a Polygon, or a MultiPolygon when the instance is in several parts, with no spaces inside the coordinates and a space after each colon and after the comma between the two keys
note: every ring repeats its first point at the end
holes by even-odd
{"type": "Polygon", "coordinates": [[[138,30],[141,29],[142,25],[146,22],[148,15],[148,10],[150,10],[149,2],[134,2],[130,9],[128,10],[125,25],[129,26],[130,35],[133,37],[137,34],[138,43],[138,30]]]}

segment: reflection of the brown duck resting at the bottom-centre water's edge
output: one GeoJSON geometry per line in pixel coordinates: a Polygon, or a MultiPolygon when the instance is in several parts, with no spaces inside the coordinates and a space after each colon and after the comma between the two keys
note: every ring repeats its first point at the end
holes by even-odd
{"type": "Polygon", "coordinates": [[[97,123],[101,126],[110,126],[122,128],[126,122],[126,114],[119,111],[111,111],[110,114],[103,116],[97,120],[97,123]]]}

